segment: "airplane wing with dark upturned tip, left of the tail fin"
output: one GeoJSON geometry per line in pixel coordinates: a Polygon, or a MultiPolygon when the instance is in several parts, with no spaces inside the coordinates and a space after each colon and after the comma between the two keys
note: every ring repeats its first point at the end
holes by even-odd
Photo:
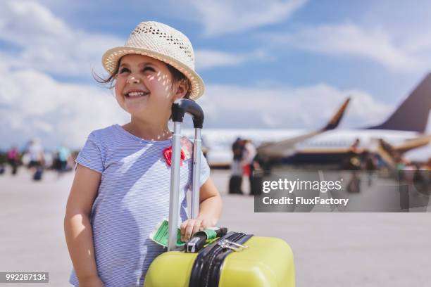
{"type": "Polygon", "coordinates": [[[322,129],[318,129],[308,134],[295,136],[282,141],[263,143],[257,148],[258,154],[263,158],[282,158],[292,155],[295,152],[296,144],[300,143],[301,141],[305,141],[306,139],[310,139],[311,137],[321,134],[323,132],[335,129],[339,125],[339,122],[342,120],[342,117],[347,106],[349,105],[349,102],[350,98],[347,98],[346,101],[344,101],[344,103],[342,104],[342,106],[337,110],[337,113],[332,116],[327,125],[325,125],[325,127],[323,127],[322,129]]]}

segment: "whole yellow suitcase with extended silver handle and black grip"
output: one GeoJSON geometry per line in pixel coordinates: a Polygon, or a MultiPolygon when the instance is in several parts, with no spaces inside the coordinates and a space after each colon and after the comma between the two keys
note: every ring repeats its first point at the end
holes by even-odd
{"type": "MultiPolygon", "coordinates": [[[[185,113],[193,117],[192,215],[199,212],[199,167],[201,128],[204,114],[194,101],[173,104],[173,165],[171,174],[168,252],[151,263],[145,287],[258,287],[295,286],[294,261],[289,245],[280,238],[228,232],[197,253],[187,253],[176,245],[179,216],[180,129],[185,113]]],[[[189,241],[192,242],[193,238],[189,241]]]]}

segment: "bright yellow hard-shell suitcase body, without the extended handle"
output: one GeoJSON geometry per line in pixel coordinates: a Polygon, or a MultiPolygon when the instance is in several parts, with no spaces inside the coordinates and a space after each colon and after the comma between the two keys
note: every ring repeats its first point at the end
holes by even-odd
{"type": "Polygon", "coordinates": [[[226,250],[228,254],[221,264],[215,257],[208,260],[205,256],[211,248],[217,247],[217,242],[199,253],[163,253],[151,264],[144,286],[295,286],[293,253],[285,241],[280,238],[251,236],[242,244],[248,248],[238,252],[226,250]],[[204,262],[199,262],[200,260],[204,262]]]}

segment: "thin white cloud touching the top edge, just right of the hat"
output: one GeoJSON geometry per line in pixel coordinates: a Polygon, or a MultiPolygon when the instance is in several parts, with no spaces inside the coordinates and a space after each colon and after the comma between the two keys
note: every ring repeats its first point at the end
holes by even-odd
{"type": "Polygon", "coordinates": [[[286,20],[307,0],[189,1],[196,8],[207,36],[244,32],[286,20]]]}

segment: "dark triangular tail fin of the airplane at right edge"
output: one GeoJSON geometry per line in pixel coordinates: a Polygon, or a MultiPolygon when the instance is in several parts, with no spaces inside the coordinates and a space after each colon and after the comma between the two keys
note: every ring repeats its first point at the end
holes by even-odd
{"type": "Polygon", "coordinates": [[[431,109],[431,73],[418,84],[411,94],[381,125],[367,129],[392,129],[425,132],[431,109]]]}

